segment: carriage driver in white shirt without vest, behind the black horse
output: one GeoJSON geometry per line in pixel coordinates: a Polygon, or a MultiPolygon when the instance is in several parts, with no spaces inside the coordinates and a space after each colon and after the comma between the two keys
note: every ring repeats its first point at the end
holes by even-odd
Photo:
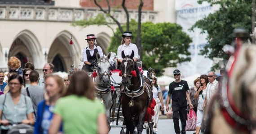
{"type": "Polygon", "coordinates": [[[118,55],[118,59],[119,59],[119,63],[122,63],[123,59],[122,59],[122,51],[124,50],[124,54],[125,55],[131,55],[132,54],[132,50],[134,51],[134,61],[137,62],[137,60],[140,58],[139,54],[138,54],[138,48],[135,44],[132,44],[132,32],[124,32],[124,34],[122,35],[123,37],[123,41],[122,41],[122,45],[120,45],[117,49],[117,55],[118,55]]]}

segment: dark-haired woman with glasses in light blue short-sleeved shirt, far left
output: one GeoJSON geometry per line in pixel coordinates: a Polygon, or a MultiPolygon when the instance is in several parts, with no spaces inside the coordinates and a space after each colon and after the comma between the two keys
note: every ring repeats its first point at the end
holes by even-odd
{"type": "Polygon", "coordinates": [[[9,92],[0,96],[1,134],[7,134],[10,124],[34,124],[31,99],[21,94],[22,84],[22,77],[14,73],[8,79],[9,92]]]}

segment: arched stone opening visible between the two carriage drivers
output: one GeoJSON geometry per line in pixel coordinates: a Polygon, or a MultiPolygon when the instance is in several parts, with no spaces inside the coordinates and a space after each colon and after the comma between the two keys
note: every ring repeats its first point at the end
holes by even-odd
{"type": "Polygon", "coordinates": [[[104,32],[97,34],[97,45],[102,48],[103,54],[107,54],[107,47],[110,45],[110,36],[104,32]]]}

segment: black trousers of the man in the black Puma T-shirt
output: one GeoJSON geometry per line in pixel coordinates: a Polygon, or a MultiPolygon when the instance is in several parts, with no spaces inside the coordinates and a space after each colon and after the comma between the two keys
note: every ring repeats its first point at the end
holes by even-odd
{"type": "Polygon", "coordinates": [[[187,120],[187,106],[177,107],[172,106],[172,119],[174,124],[174,130],[176,134],[186,134],[186,120],[187,120]],[[181,118],[181,130],[179,125],[179,119],[181,118]]]}

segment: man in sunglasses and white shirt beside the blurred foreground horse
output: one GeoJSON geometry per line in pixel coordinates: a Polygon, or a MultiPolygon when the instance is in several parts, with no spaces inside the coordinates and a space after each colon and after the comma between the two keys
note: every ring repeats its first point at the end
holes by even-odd
{"type": "Polygon", "coordinates": [[[207,75],[209,83],[207,84],[206,88],[206,97],[203,103],[203,109],[206,105],[209,104],[213,94],[216,91],[216,88],[219,86],[219,82],[216,79],[216,75],[213,71],[210,71],[207,75]]]}

